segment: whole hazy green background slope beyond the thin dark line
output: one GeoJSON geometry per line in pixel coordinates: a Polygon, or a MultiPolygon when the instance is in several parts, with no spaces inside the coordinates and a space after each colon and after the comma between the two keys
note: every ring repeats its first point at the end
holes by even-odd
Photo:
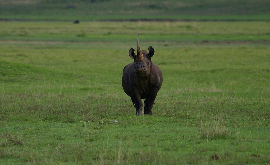
{"type": "Polygon", "coordinates": [[[269,20],[268,0],[0,0],[0,19],[269,20]]]}

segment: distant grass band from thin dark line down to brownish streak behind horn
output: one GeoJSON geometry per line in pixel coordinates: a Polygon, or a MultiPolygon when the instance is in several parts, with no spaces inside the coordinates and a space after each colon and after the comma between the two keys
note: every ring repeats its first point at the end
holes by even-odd
{"type": "MultiPolygon", "coordinates": [[[[1,22],[1,40],[66,42],[270,41],[267,22],[1,22]]],[[[134,42],[133,42],[134,43],[134,42]]]]}

